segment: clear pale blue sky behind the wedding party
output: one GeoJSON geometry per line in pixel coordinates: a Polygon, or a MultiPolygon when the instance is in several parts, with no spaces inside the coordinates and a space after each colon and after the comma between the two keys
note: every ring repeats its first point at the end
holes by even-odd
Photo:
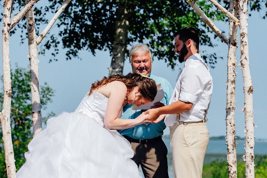
{"type": "MultiPolygon", "coordinates": [[[[41,3],[41,2],[40,2],[41,3]]],[[[2,8],[0,9],[2,11],[2,8]]],[[[266,9],[265,9],[266,11],[266,9]]],[[[256,139],[267,139],[267,124],[266,124],[266,76],[267,76],[267,62],[266,62],[266,49],[267,49],[267,21],[261,19],[264,10],[260,13],[252,12],[249,17],[249,62],[250,72],[253,82],[253,109],[254,121],[257,128],[255,128],[256,139]]],[[[228,36],[228,23],[214,22],[218,28],[224,30],[228,36]]],[[[44,27],[42,27],[44,28],[44,27]]],[[[41,30],[42,30],[41,28],[41,30]]],[[[53,32],[58,29],[56,26],[52,28],[53,32]]],[[[239,32],[238,32],[239,33],[239,32]]],[[[239,36],[239,35],[238,35],[239,36]]],[[[215,69],[210,69],[211,76],[214,82],[214,91],[211,98],[210,108],[208,110],[209,121],[207,122],[210,136],[226,135],[225,124],[225,106],[226,106],[226,80],[227,80],[227,51],[228,46],[217,39],[213,42],[218,46],[214,48],[200,46],[200,50],[207,50],[210,53],[217,53],[222,56],[223,60],[217,61],[215,69]]],[[[238,41],[238,45],[239,45],[238,41]]],[[[28,40],[20,45],[20,32],[10,38],[10,59],[11,67],[14,69],[15,63],[18,66],[29,66],[28,55],[28,40]]],[[[2,44],[0,44],[1,46],[2,44]]],[[[128,47],[130,48],[130,46],[128,47]]],[[[40,47],[39,47],[40,49],[40,47]]],[[[2,56],[1,56],[2,57],[2,56]]],[[[73,112],[79,105],[83,96],[90,90],[91,83],[96,80],[102,79],[103,76],[108,75],[108,67],[110,66],[111,57],[108,52],[97,51],[96,56],[91,55],[87,51],[81,51],[80,57],[82,60],[72,59],[71,61],[65,60],[65,50],[60,50],[57,56],[58,61],[48,63],[50,59],[49,51],[46,56],[39,55],[39,78],[40,84],[48,82],[48,85],[55,90],[55,97],[53,102],[48,104],[47,111],[42,111],[42,115],[53,111],[56,115],[63,111],[73,112]]],[[[237,49],[236,60],[239,63],[240,48],[237,49]]],[[[2,64],[1,64],[2,65],[2,64]]],[[[175,85],[179,68],[183,64],[176,66],[174,70],[167,67],[167,64],[154,58],[152,63],[152,74],[166,78],[171,85],[175,85]]],[[[124,66],[124,74],[131,71],[129,60],[126,59],[124,66]]],[[[241,112],[244,105],[243,94],[243,79],[240,66],[236,68],[238,73],[236,76],[236,135],[244,136],[244,113],[241,112]]],[[[2,72],[1,72],[2,73],[2,72]]],[[[2,83],[0,87],[2,88],[2,83]]],[[[169,134],[169,129],[165,130],[165,134],[169,134]]]]}

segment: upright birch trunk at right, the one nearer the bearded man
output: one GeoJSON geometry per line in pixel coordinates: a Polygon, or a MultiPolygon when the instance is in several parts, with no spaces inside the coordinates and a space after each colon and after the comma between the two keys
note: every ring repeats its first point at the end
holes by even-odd
{"type": "MultiPolygon", "coordinates": [[[[230,0],[230,13],[238,17],[238,1],[230,0]]],[[[226,103],[226,141],[228,177],[237,177],[236,165],[236,125],[235,125],[235,93],[236,93],[236,49],[237,27],[235,21],[229,21],[229,47],[227,61],[227,103],[226,103]]]]}

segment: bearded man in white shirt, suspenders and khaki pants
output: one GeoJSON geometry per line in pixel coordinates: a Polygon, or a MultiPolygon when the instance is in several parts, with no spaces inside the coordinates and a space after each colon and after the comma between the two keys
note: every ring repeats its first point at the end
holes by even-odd
{"type": "Polygon", "coordinates": [[[174,34],[174,51],[184,68],[178,74],[170,105],[149,109],[147,120],[167,114],[173,172],[177,178],[202,177],[203,161],[208,146],[207,110],[212,94],[212,78],[198,51],[199,34],[186,27],[174,34]]]}

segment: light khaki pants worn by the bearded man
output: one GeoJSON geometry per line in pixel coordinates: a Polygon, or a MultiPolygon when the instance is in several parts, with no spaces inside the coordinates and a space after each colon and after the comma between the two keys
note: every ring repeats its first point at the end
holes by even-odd
{"type": "Polygon", "coordinates": [[[170,148],[175,178],[201,178],[208,147],[206,123],[176,123],[170,127],[170,148]]]}

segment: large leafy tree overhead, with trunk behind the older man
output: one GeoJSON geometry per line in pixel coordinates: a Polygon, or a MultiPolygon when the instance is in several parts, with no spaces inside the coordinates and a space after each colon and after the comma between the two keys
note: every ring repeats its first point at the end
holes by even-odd
{"type": "MultiPolygon", "coordinates": [[[[16,2],[18,3],[15,3],[15,9],[24,5],[24,0],[16,2]]],[[[35,7],[37,34],[39,25],[48,22],[46,14],[56,12],[62,3],[63,1],[49,0],[45,7],[35,7]]],[[[220,1],[220,3],[228,9],[229,1],[220,1]]],[[[228,20],[208,0],[197,1],[197,4],[209,18],[220,21],[228,20]]],[[[254,0],[249,1],[249,6],[251,10],[260,11],[267,7],[267,3],[265,0],[254,0]]],[[[267,14],[263,16],[265,17],[267,14]]],[[[67,60],[73,57],[79,58],[80,50],[87,50],[93,55],[96,50],[109,51],[113,56],[112,70],[117,70],[115,71],[117,73],[122,72],[127,45],[132,45],[134,42],[147,43],[155,57],[165,60],[174,68],[177,57],[173,52],[171,32],[185,26],[192,26],[200,31],[202,45],[210,47],[216,45],[211,43],[210,29],[182,0],[102,0],[100,2],[73,0],[59,20],[57,25],[61,30],[58,34],[51,34],[46,39],[40,53],[44,54],[46,49],[51,50],[53,59],[57,60],[60,42],[67,50],[67,60]]],[[[26,23],[19,25],[17,29],[26,33],[26,23]]],[[[23,36],[21,37],[23,39],[23,36]]],[[[214,67],[218,58],[216,53],[204,52],[204,54],[203,59],[214,67]]]]}

